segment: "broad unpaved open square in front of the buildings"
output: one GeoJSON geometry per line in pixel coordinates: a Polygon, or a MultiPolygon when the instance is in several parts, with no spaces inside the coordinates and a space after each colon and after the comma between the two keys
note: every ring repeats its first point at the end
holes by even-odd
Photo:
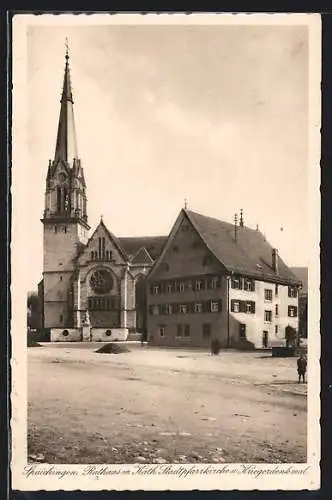
{"type": "Polygon", "coordinates": [[[29,461],[306,461],[296,360],[89,344],[28,349],[29,461]]]}

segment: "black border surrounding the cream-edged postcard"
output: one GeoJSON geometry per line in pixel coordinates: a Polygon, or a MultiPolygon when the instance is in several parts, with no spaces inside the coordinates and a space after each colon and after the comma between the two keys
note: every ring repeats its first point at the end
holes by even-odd
{"type": "MultiPolygon", "coordinates": [[[[201,8],[193,9],[193,4],[183,5],[171,2],[167,6],[163,2],[154,9],[149,6],[149,2],[141,2],[136,8],[129,2],[117,2],[105,5],[105,2],[95,0],[94,11],[84,9],[87,7],[82,2],[68,0],[63,2],[41,2],[34,0],[30,2],[12,2],[12,5],[1,6],[1,93],[7,96],[0,100],[1,109],[1,181],[0,181],[0,221],[1,221],[1,243],[0,243],[0,495],[1,498],[13,498],[15,500],[36,499],[36,500],[76,500],[76,499],[103,499],[110,498],[131,498],[141,500],[143,498],[221,498],[227,500],[264,498],[275,499],[284,498],[289,500],[297,499],[323,499],[329,498],[332,491],[332,276],[331,276],[331,255],[332,255],[332,13],[324,5],[316,3],[313,9],[299,9],[292,2],[279,2],[278,8],[257,7],[250,12],[321,12],[322,13],[322,154],[321,154],[321,489],[317,491],[183,491],[183,492],[116,492],[116,491],[96,491],[96,492],[22,492],[12,491],[10,484],[10,224],[11,224],[11,20],[15,13],[89,13],[89,12],[249,12],[243,6],[235,5],[236,2],[223,2],[210,5],[201,2],[201,8]],[[173,3],[173,5],[171,5],[173,3]],[[23,4],[23,5],[22,5],[23,4]],[[25,5],[24,5],[25,4],[25,5]],[[104,5],[103,5],[104,4],[104,5]],[[127,4],[127,5],[126,5],[127,4]],[[129,4],[129,5],[128,5],[129,4]],[[215,4],[215,5],[214,5],[215,4]],[[228,5],[227,5],[228,4],[228,5]],[[280,5],[282,4],[282,5],[280,5]],[[110,10],[106,10],[106,7],[110,10]],[[128,8],[129,7],[129,8],[128,8]],[[145,7],[146,10],[143,10],[145,7]],[[167,7],[167,8],[166,8],[167,7]],[[172,8],[173,7],[173,8],[172,8]],[[189,9],[191,7],[191,9],[189,9]],[[242,7],[242,8],[241,8],[242,7]],[[70,8],[72,10],[70,10],[70,8]],[[7,60],[8,57],[8,60],[7,60]],[[5,77],[6,75],[6,77],[5,77]]],[[[91,6],[91,5],[90,5],[91,6]]],[[[24,168],[24,166],[22,166],[24,168]]],[[[319,332],[311,332],[319,334],[319,332]]]]}

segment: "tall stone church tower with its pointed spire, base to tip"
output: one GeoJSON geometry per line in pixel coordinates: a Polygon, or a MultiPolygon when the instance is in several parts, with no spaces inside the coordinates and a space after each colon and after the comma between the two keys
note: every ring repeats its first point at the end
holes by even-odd
{"type": "Polygon", "coordinates": [[[49,160],[44,226],[44,327],[65,328],[73,322],[72,281],[75,259],[88,240],[86,184],[77,154],[74,101],[68,47],[54,159],[49,160]]]}

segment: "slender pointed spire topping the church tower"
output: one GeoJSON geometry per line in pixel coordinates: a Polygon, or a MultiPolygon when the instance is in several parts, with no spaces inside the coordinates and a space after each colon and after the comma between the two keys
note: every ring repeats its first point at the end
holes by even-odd
{"type": "Polygon", "coordinates": [[[74,158],[77,158],[77,146],[73,109],[74,101],[70,82],[69,49],[67,39],[65,60],[65,72],[60,101],[61,108],[54,161],[63,160],[65,163],[71,163],[74,158]]]}

